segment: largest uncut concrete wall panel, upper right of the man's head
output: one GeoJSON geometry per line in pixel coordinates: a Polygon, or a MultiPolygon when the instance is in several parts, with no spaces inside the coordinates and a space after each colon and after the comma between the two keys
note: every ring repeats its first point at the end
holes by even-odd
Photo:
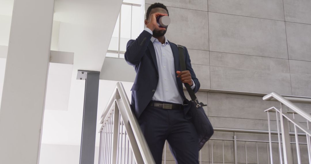
{"type": "Polygon", "coordinates": [[[288,58],[282,21],[209,12],[210,51],[288,58]]]}

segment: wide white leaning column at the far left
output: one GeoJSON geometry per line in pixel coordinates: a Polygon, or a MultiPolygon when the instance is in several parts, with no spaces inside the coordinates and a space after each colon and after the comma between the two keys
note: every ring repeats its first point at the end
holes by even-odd
{"type": "Polygon", "coordinates": [[[15,0],[0,110],[0,163],[39,163],[54,0],[15,0]]]}

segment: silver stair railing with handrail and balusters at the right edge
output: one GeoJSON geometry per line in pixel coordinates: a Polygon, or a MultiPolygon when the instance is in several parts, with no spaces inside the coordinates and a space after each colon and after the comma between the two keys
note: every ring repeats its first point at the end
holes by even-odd
{"type": "MultiPolygon", "coordinates": [[[[299,139],[298,139],[298,130],[301,130],[303,133],[306,134],[306,141],[307,141],[307,153],[309,163],[311,164],[311,143],[310,143],[310,136],[311,130],[309,129],[309,123],[311,122],[311,115],[299,107],[297,107],[293,102],[290,102],[288,99],[284,98],[283,96],[279,95],[276,92],[269,93],[265,95],[263,100],[272,100],[276,99],[281,103],[280,109],[276,107],[270,107],[269,109],[265,110],[268,115],[268,129],[269,129],[269,146],[272,149],[272,139],[271,139],[271,119],[270,113],[276,113],[276,128],[278,134],[278,144],[279,144],[279,159],[280,163],[284,164],[293,164],[293,154],[291,149],[291,138],[290,138],[290,127],[289,125],[294,125],[294,133],[295,133],[295,148],[297,153],[297,163],[301,164],[301,153],[299,147],[299,139]],[[282,104],[288,107],[289,110],[285,110],[282,108],[282,104]],[[295,118],[296,115],[296,118],[295,118]],[[305,120],[306,126],[303,125],[305,123],[301,123],[301,118],[298,120],[297,117],[302,117],[305,120]],[[280,123],[279,123],[280,122],[280,123]],[[280,124],[280,125],[279,125],[280,124]],[[281,132],[281,134],[280,134],[281,132]]],[[[310,100],[304,100],[305,102],[311,102],[310,100]]],[[[271,164],[273,164],[273,154],[270,151],[271,157],[271,164]]],[[[296,162],[295,162],[296,163],[296,162]]]]}

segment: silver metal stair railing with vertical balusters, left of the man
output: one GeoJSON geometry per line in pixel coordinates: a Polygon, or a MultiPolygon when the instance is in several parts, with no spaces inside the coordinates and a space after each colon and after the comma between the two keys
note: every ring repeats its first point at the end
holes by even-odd
{"type": "Polygon", "coordinates": [[[99,164],[154,164],[121,82],[101,116],[99,164]]]}

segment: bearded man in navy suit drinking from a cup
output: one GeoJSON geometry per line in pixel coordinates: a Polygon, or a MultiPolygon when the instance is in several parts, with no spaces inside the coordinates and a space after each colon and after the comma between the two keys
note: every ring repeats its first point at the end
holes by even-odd
{"type": "Polygon", "coordinates": [[[136,40],[128,41],[124,57],[136,71],[131,106],[157,164],[162,163],[165,140],[176,163],[198,163],[198,136],[188,115],[183,83],[194,92],[200,83],[187,48],[183,49],[186,71],[180,71],[178,47],[164,36],[167,27],[156,23],[158,16],[168,15],[163,4],[152,4],[146,12],[145,30],[136,40]]]}

